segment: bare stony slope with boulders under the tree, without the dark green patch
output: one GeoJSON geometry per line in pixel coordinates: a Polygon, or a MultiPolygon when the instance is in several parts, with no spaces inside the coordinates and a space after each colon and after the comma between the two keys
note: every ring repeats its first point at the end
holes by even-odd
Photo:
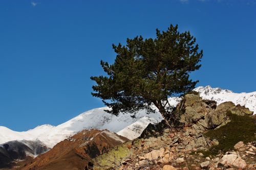
{"type": "MultiPolygon", "coordinates": [[[[241,116],[250,113],[247,108],[230,102],[217,106],[216,102],[202,100],[197,94],[187,94],[175,112],[181,113],[184,127],[165,129],[164,122],[149,125],[140,138],[93,159],[91,169],[224,169],[254,166],[237,152],[204,156],[210,148],[219,144],[218,140],[206,137],[205,132],[230,122],[227,112],[241,116]],[[225,156],[232,154],[236,155],[232,158],[234,161],[230,160],[232,156],[225,156]]],[[[235,146],[243,148],[242,144],[238,145],[235,146]]],[[[248,152],[251,151],[247,149],[243,152],[250,155],[248,152]]]]}

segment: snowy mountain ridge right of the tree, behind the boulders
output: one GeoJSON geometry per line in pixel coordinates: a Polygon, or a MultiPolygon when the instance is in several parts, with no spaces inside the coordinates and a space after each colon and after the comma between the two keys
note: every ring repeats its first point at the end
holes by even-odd
{"type": "Polygon", "coordinates": [[[256,113],[256,91],[250,93],[234,93],[231,90],[212,88],[210,86],[199,86],[194,91],[199,92],[203,99],[216,101],[217,105],[230,101],[235,105],[240,104],[249,108],[250,111],[253,111],[253,114],[256,113]]]}

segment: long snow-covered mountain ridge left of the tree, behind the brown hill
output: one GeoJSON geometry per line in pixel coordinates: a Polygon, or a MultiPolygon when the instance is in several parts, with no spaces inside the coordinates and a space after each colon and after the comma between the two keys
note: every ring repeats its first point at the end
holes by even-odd
{"type": "MultiPolygon", "coordinates": [[[[123,113],[115,116],[105,112],[105,109],[108,108],[102,107],[89,110],[56,127],[49,125],[46,127],[45,125],[42,125],[26,132],[16,132],[6,127],[0,127],[0,143],[10,140],[38,139],[48,145],[48,147],[52,148],[56,143],[83,129],[108,129],[117,134],[119,131],[123,130],[121,132],[123,136],[130,136],[130,133],[133,133],[134,137],[138,137],[143,129],[141,132],[138,131],[135,135],[135,132],[131,132],[133,129],[129,128],[130,125],[137,121],[148,119],[147,122],[144,122],[145,125],[143,125],[143,128],[145,128],[150,122],[157,123],[162,119],[158,112],[146,114],[144,110],[141,110],[136,114],[136,118],[132,118],[130,114],[123,113]],[[126,134],[124,134],[124,131],[126,134]]],[[[129,138],[131,139],[131,137],[129,138]]]]}

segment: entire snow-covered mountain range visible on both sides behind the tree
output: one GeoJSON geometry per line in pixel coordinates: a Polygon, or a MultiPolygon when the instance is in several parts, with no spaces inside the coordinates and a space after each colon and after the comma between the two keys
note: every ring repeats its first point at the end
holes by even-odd
{"type": "MultiPolygon", "coordinates": [[[[215,100],[217,104],[231,101],[248,107],[256,112],[256,92],[234,93],[221,88],[197,87],[194,89],[200,93],[203,99],[215,100]]],[[[169,102],[173,106],[179,103],[179,98],[170,98],[169,102]]],[[[0,143],[11,140],[40,140],[48,147],[52,148],[56,143],[66,139],[83,129],[108,129],[129,139],[139,137],[142,131],[150,123],[158,123],[162,120],[160,113],[146,114],[144,110],[139,111],[135,118],[130,114],[120,113],[118,116],[109,114],[104,110],[106,107],[96,108],[84,112],[66,123],[56,127],[51,125],[38,126],[26,132],[12,131],[0,126],[0,143]]]]}

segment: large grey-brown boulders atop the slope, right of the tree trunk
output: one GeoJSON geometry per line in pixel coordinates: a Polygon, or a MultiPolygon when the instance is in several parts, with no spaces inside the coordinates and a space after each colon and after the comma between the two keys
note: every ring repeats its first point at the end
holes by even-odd
{"type": "Polygon", "coordinates": [[[199,95],[187,94],[177,105],[176,112],[182,112],[180,119],[184,124],[197,123],[207,129],[221,127],[230,122],[227,112],[236,115],[252,115],[252,111],[232,102],[224,102],[217,106],[217,102],[202,100],[199,95]]]}

